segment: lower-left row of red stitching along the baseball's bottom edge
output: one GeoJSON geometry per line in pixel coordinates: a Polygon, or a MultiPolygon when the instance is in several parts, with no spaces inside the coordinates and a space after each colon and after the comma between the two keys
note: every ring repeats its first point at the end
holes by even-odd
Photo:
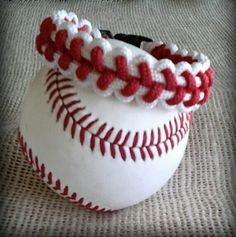
{"type": "Polygon", "coordinates": [[[51,171],[47,171],[45,164],[41,164],[38,157],[33,155],[31,148],[27,149],[27,143],[24,141],[23,135],[20,130],[17,129],[17,136],[20,146],[22,148],[22,153],[28,163],[35,169],[36,174],[43,179],[51,189],[54,189],[60,196],[64,198],[68,198],[69,200],[76,203],[79,207],[86,208],[91,211],[96,212],[112,212],[114,210],[102,208],[99,205],[95,205],[92,202],[86,202],[84,197],[79,197],[76,192],[73,192],[71,195],[71,190],[67,185],[62,185],[60,179],[54,180],[53,173],[51,171]]]}

